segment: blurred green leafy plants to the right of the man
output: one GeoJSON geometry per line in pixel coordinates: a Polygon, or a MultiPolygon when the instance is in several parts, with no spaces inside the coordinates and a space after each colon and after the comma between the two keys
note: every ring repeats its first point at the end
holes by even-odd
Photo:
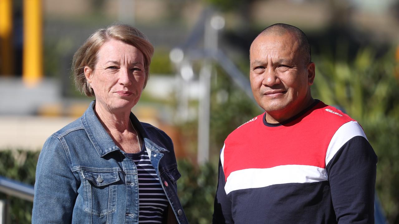
{"type": "Polygon", "coordinates": [[[378,156],[376,189],[390,223],[399,222],[399,84],[392,52],[375,59],[371,49],[353,62],[319,57],[312,94],[341,106],[359,121],[378,156]]]}

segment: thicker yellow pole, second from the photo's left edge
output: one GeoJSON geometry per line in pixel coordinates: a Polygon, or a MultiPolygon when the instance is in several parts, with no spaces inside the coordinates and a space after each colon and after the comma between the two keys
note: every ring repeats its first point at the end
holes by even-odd
{"type": "Polygon", "coordinates": [[[24,0],[22,80],[28,87],[43,77],[41,0],[24,0]]]}

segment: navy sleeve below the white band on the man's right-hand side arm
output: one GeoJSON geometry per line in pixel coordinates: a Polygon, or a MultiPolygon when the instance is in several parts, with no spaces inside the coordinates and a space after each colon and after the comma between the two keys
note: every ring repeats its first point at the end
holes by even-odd
{"type": "Polygon", "coordinates": [[[338,223],[374,223],[377,155],[363,136],[348,140],[327,165],[338,223]]]}

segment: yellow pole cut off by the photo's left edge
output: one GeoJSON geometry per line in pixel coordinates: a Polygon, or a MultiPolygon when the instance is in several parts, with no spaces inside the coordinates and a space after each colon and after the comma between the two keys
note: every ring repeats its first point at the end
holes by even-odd
{"type": "Polygon", "coordinates": [[[0,0],[0,74],[14,73],[12,51],[12,0],[0,0]]]}

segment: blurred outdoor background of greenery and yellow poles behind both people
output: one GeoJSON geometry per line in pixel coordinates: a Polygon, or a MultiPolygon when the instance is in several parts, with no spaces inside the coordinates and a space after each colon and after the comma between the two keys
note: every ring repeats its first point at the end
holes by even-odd
{"type": "Polygon", "coordinates": [[[93,100],[75,90],[72,56],[114,22],[140,29],[155,47],[150,79],[132,111],[172,138],[190,223],[211,222],[224,139],[263,112],[249,86],[249,46],[279,22],[310,40],[314,98],[358,120],[378,155],[376,222],[399,223],[398,0],[0,0],[6,221],[30,223],[44,141],[93,100]],[[12,180],[23,183],[16,185],[22,193],[7,187],[12,180]]]}

